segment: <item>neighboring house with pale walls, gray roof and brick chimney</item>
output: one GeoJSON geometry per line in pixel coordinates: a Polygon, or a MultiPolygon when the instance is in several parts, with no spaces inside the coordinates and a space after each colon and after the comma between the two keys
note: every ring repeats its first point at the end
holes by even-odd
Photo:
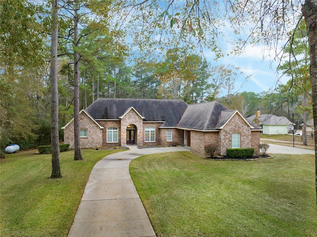
{"type": "Polygon", "coordinates": [[[251,125],[259,125],[263,129],[263,134],[276,135],[288,134],[287,126],[294,125],[284,116],[276,116],[274,114],[262,114],[261,111],[256,111],[255,115],[247,118],[251,125]]]}

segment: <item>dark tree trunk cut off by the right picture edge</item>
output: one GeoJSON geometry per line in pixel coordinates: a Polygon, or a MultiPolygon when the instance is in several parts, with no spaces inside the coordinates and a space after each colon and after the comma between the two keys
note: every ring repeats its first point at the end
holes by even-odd
{"type": "MultiPolygon", "coordinates": [[[[305,17],[310,55],[312,81],[314,131],[317,134],[317,0],[305,0],[302,5],[305,17]]],[[[317,197],[317,140],[315,137],[316,197],[317,197]]],[[[316,199],[317,200],[317,199],[316,199]]]]}

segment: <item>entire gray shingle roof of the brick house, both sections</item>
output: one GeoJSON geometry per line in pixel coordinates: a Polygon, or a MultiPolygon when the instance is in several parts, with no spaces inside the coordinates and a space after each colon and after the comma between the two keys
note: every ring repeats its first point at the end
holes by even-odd
{"type": "MultiPolygon", "coordinates": [[[[95,120],[119,119],[134,108],[143,121],[164,121],[161,127],[200,131],[218,130],[237,112],[217,101],[190,104],[172,99],[99,98],[86,109],[95,120]]],[[[258,126],[253,125],[258,129],[258,126]]]]}

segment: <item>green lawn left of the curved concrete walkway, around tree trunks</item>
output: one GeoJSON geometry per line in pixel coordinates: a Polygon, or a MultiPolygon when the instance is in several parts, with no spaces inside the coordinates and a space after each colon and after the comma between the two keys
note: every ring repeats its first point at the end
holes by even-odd
{"type": "Polygon", "coordinates": [[[118,151],[83,149],[83,161],[62,152],[61,179],[49,178],[51,155],[7,154],[0,166],[0,236],[66,237],[92,168],[118,151]]]}

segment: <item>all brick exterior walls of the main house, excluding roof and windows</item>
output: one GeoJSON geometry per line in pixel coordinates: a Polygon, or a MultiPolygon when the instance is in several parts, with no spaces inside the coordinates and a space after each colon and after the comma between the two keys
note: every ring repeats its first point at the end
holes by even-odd
{"type": "MultiPolygon", "coordinates": [[[[180,129],[159,129],[162,123],[144,123],[142,118],[131,109],[122,119],[115,121],[97,121],[104,129],[100,127],[82,112],[80,114],[80,129],[87,129],[87,138],[81,138],[81,148],[95,148],[95,147],[112,147],[112,146],[125,146],[126,145],[126,128],[128,125],[133,124],[135,130],[135,143],[138,146],[151,146],[151,145],[176,145],[184,144],[184,131],[180,129]],[[109,127],[118,128],[118,142],[107,143],[106,131],[109,127]],[[145,128],[156,128],[156,141],[145,142],[145,128]],[[172,142],[167,142],[166,132],[172,131],[172,142]],[[123,134],[124,133],[124,134],[123,134]]],[[[64,130],[64,142],[69,143],[69,148],[74,148],[74,123],[73,121],[64,130]]],[[[235,114],[231,120],[220,131],[215,132],[200,132],[200,131],[186,131],[187,145],[191,146],[191,151],[200,156],[207,157],[204,147],[207,144],[217,143],[219,145],[219,152],[215,155],[225,155],[226,149],[231,148],[231,135],[232,133],[240,133],[240,147],[252,147],[255,154],[260,153],[258,147],[260,143],[260,131],[252,131],[244,120],[235,114]]]]}

